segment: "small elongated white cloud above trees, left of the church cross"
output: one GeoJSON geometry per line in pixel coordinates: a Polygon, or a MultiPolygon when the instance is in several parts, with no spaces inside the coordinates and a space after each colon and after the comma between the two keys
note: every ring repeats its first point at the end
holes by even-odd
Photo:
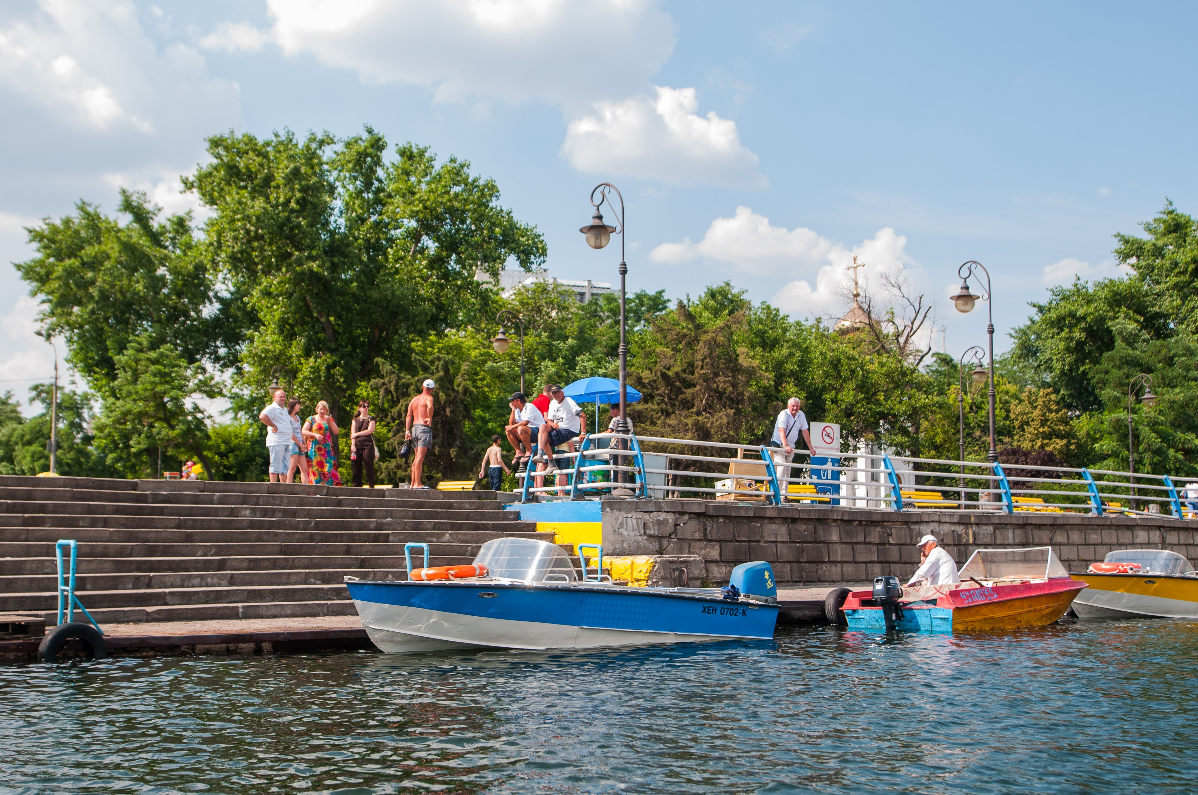
{"type": "Polygon", "coordinates": [[[695,259],[728,262],[756,274],[779,274],[825,259],[833,242],[805,226],[788,230],[772,226],[769,219],[749,207],[737,207],[732,218],[716,218],[698,243],[662,243],[653,249],[654,262],[677,265],[695,259]]]}

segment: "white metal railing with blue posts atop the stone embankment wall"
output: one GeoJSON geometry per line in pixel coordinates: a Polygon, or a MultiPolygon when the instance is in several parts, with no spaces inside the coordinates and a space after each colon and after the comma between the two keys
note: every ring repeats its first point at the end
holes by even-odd
{"type": "Polygon", "coordinates": [[[803,462],[811,456],[803,449],[794,451],[799,461],[788,463],[779,448],[633,433],[591,433],[577,447],[556,454],[558,469],[549,477],[553,483],[543,473],[518,473],[521,502],[538,494],[579,499],[624,488],[625,494],[642,498],[685,494],[774,505],[785,500],[900,511],[1198,518],[1198,510],[1182,506],[1168,475],[1023,463],[1004,468],[998,462],[891,459],[887,453],[812,456],[803,462]]]}

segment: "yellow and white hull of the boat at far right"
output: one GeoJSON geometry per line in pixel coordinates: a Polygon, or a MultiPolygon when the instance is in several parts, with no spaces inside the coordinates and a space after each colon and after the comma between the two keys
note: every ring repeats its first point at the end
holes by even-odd
{"type": "Polygon", "coordinates": [[[1198,618],[1198,577],[1072,575],[1087,588],[1073,602],[1079,618],[1198,618]]]}

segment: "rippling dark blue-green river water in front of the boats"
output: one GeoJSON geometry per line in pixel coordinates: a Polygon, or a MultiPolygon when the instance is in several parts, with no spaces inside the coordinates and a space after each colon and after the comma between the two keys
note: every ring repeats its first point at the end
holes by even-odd
{"type": "Polygon", "coordinates": [[[2,793],[1192,793],[1198,624],[0,667],[2,793]]]}

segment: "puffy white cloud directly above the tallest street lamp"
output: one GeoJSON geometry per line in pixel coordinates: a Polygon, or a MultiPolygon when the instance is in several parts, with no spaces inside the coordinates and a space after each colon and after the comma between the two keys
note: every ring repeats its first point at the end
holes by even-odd
{"type": "Polygon", "coordinates": [[[570,165],[671,184],[766,187],[734,121],[714,110],[700,116],[695,89],[654,87],[655,99],[599,102],[597,114],[570,122],[562,144],[570,165]]]}

